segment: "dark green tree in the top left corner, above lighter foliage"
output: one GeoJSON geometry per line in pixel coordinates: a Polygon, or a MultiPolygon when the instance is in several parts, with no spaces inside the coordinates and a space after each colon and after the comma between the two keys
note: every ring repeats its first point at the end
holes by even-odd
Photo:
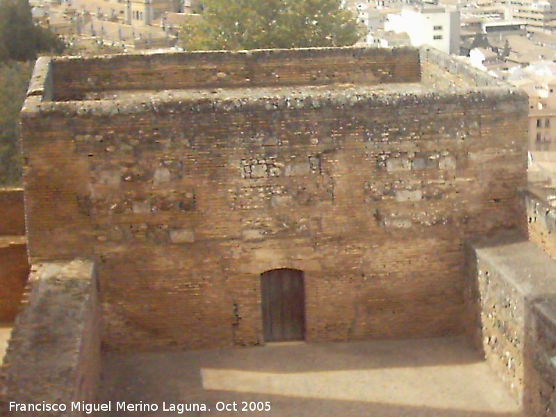
{"type": "Polygon", "coordinates": [[[0,0],[0,62],[31,60],[39,52],[60,54],[63,49],[58,36],[33,24],[28,0],[0,0]]]}

